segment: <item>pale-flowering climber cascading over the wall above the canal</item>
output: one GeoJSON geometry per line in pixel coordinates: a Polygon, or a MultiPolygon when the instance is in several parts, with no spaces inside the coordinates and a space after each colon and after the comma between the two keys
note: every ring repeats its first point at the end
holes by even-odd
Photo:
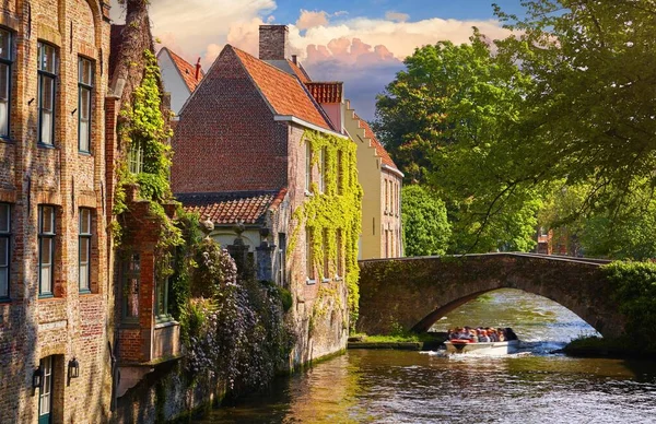
{"type": "Polygon", "coordinates": [[[195,297],[186,311],[188,369],[226,380],[232,394],[267,385],[294,342],[280,292],[251,279],[238,281],[230,255],[209,237],[197,257],[202,259],[192,292],[209,297],[195,297]]]}

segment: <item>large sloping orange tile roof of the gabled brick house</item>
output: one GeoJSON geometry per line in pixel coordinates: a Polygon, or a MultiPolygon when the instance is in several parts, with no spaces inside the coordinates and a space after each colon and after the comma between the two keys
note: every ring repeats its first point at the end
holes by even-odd
{"type": "Polygon", "coordinates": [[[319,106],[313,102],[312,96],[295,76],[238,48],[232,46],[226,48],[235,51],[246,72],[250,74],[276,114],[294,116],[318,127],[333,130],[319,106]]]}

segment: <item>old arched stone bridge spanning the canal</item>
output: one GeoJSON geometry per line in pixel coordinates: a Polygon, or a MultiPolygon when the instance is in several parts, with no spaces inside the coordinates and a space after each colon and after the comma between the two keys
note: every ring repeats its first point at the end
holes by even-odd
{"type": "Polygon", "coordinates": [[[518,288],[561,304],[604,337],[616,337],[625,319],[611,301],[599,268],[604,263],[608,261],[505,252],[364,260],[356,328],[385,334],[400,325],[423,332],[485,292],[518,288]]]}

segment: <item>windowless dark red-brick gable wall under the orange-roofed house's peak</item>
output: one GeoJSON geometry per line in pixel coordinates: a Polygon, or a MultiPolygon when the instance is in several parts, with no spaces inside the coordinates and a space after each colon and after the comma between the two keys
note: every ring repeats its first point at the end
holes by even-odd
{"type": "Polygon", "coordinates": [[[284,122],[273,122],[271,109],[234,51],[225,49],[177,123],[173,191],[285,187],[286,131],[284,122]]]}

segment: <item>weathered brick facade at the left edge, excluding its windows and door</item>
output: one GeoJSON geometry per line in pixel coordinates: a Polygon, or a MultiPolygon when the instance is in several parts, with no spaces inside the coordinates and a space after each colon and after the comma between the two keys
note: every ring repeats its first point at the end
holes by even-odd
{"type": "Polygon", "coordinates": [[[105,186],[109,52],[105,0],[7,1],[0,27],[12,34],[9,138],[0,140],[0,202],[11,204],[10,296],[0,303],[0,422],[36,423],[32,378],[52,358],[54,423],[108,419],[112,391],[105,186]],[[54,145],[38,141],[37,45],[55,47],[54,145]],[[94,63],[91,153],[78,146],[79,58],[94,63]],[[39,298],[38,208],[56,211],[52,297],[39,298]],[[79,288],[80,208],[92,211],[91,293],[79,288]],[[69,361],[80,376],[69,381],[69,361]]]}

